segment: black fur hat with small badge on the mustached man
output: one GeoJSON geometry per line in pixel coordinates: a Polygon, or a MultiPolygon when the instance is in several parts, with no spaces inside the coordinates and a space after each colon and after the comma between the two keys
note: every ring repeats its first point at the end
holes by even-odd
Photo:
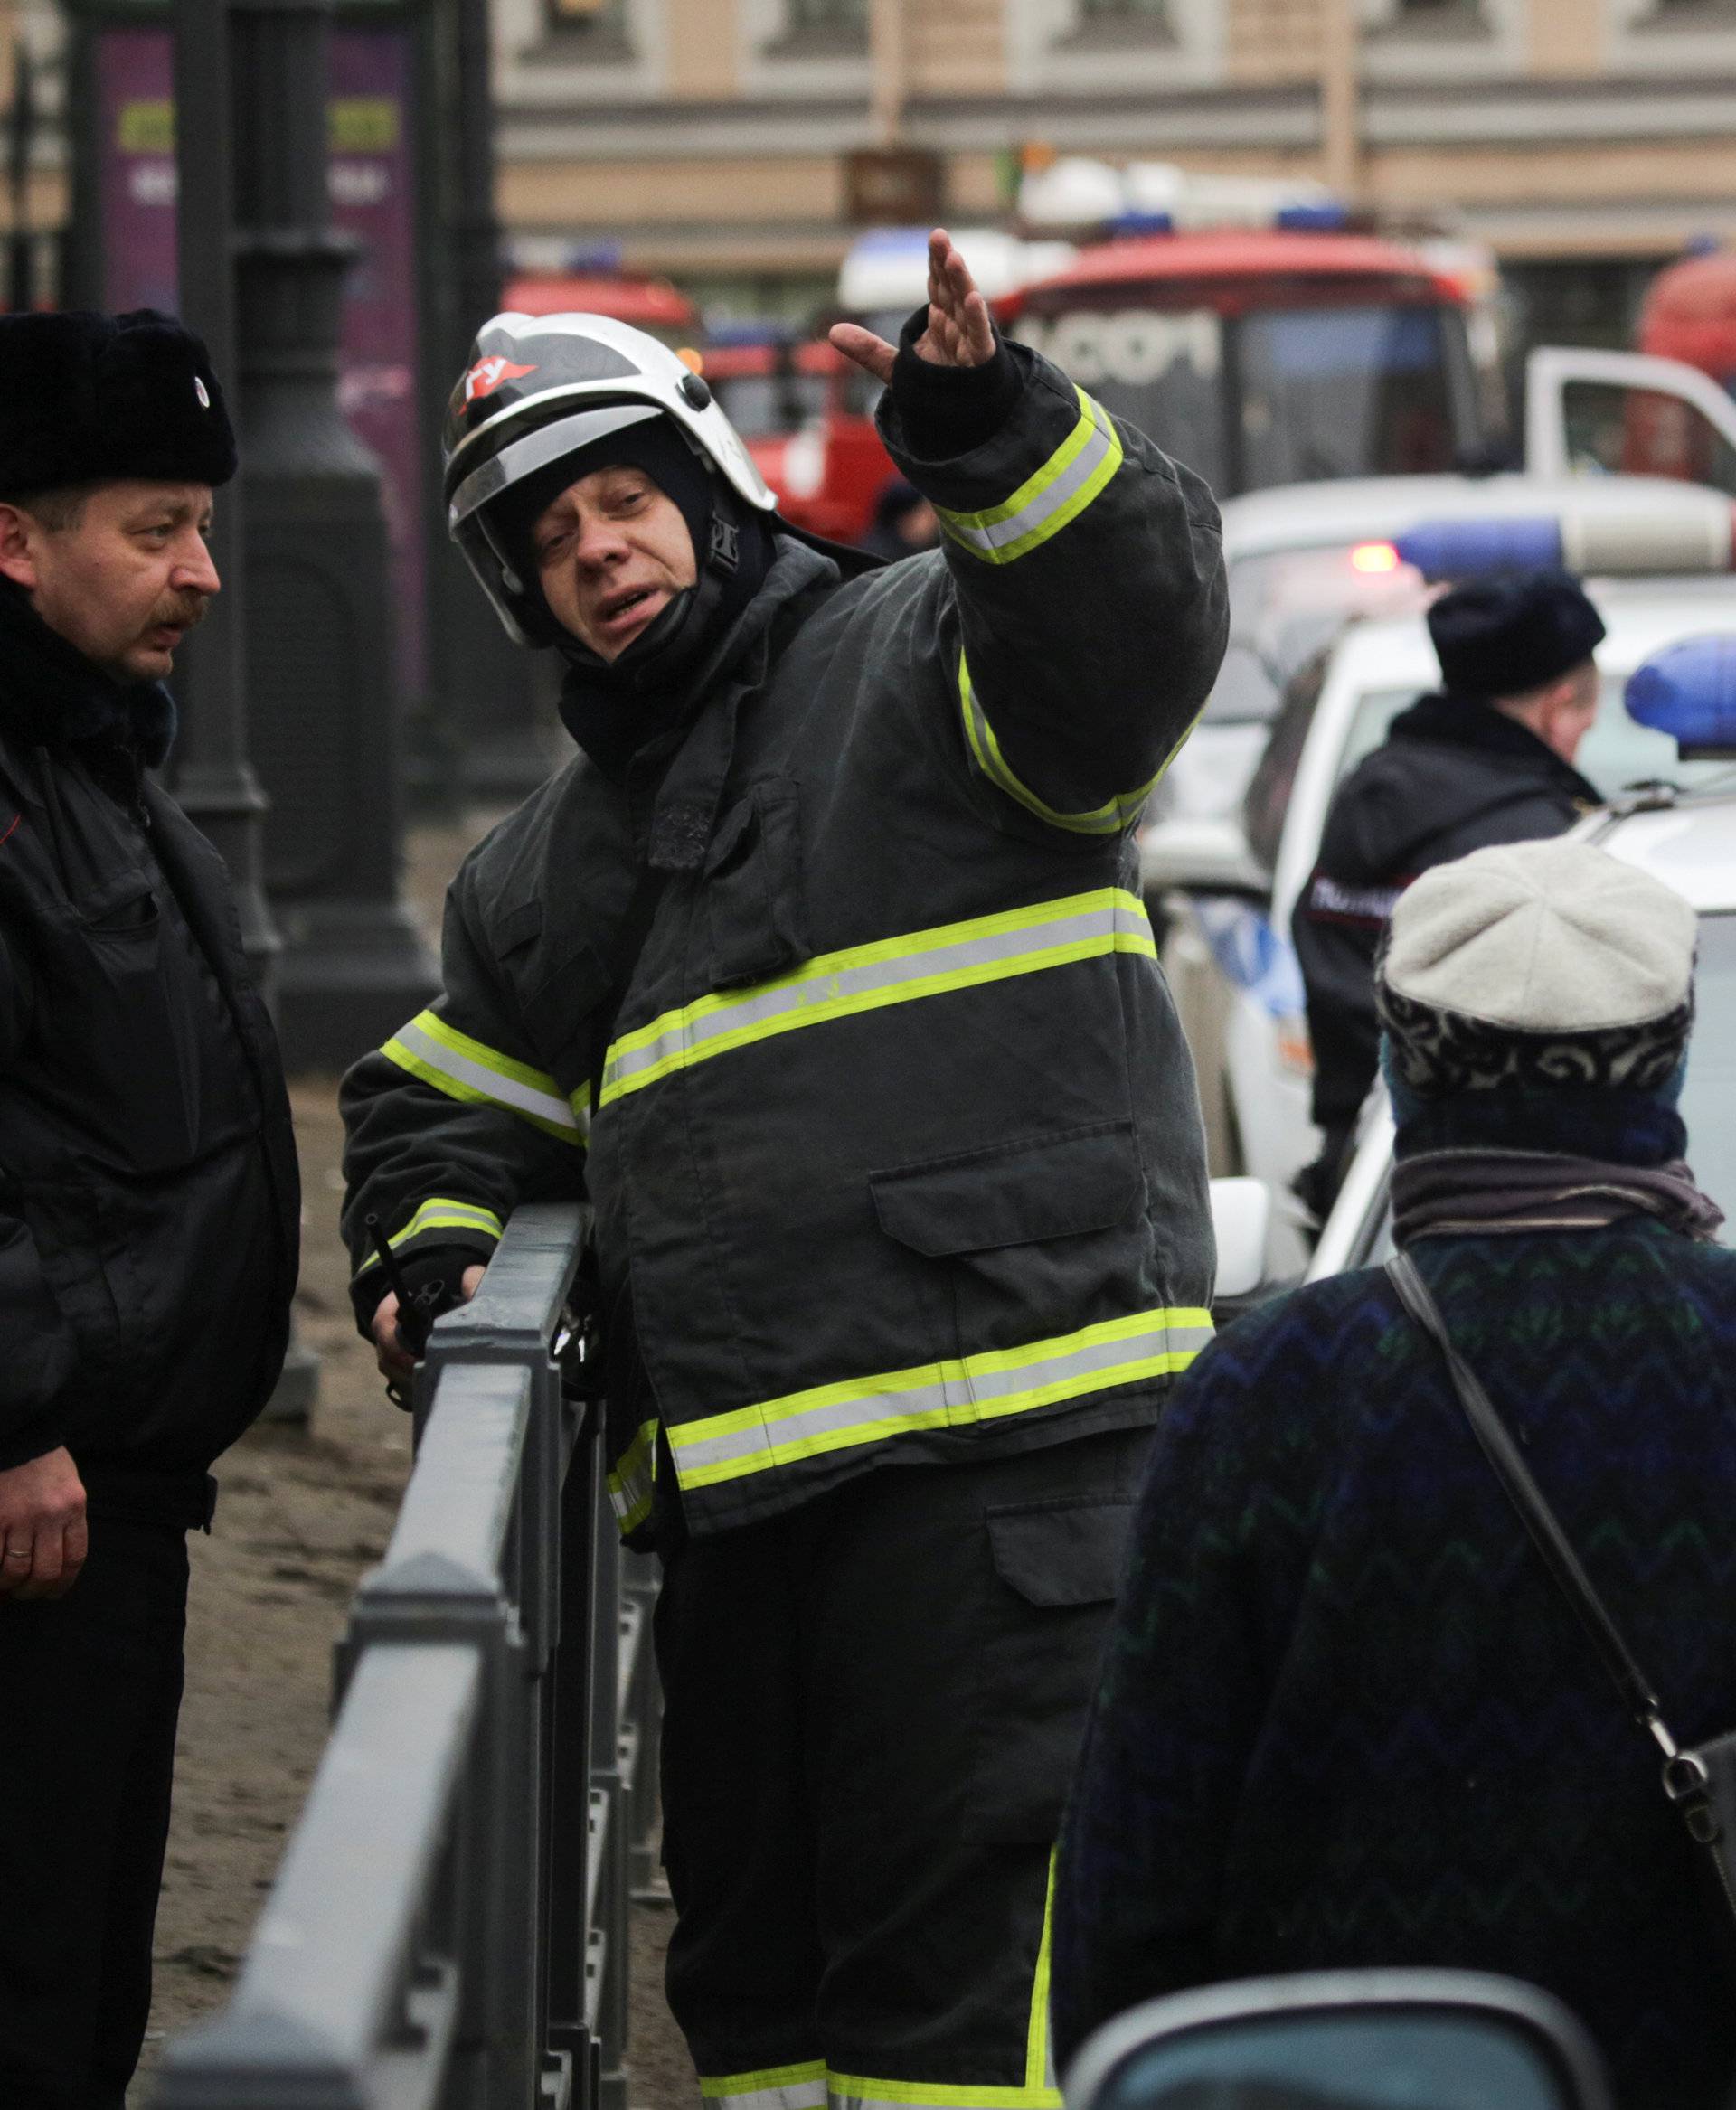
{"type": "Polygon", "coordinates": [[[234,433],[205,344],[154,308],[0,316],[0,494],[228,483],[234,433]]]}

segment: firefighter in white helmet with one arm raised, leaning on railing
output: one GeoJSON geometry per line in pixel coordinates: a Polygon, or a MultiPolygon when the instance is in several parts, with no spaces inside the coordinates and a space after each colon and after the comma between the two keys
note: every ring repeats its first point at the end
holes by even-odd
{"type": "Polygon", "coordinates": [[[1204,485],[1004,344],[937,230],[880,428],[945,551],[789,530],[700,376],[506,314],[445,435],[580,755],[344,1087],[356,1315],[589,1194],[656,1547],[669,2000],[711,2102],[1053,2104],[1046,1897],[1135,1469],[1209,1336],[1131,831],[1223,650],[1204,485]]]}

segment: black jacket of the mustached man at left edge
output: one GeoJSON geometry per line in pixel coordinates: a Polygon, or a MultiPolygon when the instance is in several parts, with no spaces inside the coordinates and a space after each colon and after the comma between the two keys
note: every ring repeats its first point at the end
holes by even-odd
{"type": "Polygon", "coordinates": [[[63,1443],[93,1504],[240,1435],[295,1289],[228,874],[141,772],[171,726],[0,587],[0,1469],[63,1443]]]}

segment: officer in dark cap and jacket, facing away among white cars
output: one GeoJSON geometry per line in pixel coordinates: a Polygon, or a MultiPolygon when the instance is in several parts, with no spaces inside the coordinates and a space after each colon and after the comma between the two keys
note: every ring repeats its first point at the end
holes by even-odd
{"type": "Polygon", "coordinates": [[[1428,610],[1441,688],[1392,720],[1339,785],[1291,935],[1314,1042],[1320,1156],[1295,1186],[1325,1217],[1375,1080],[1373,968],[1417,874],[1498,842],[1559,836],[1601,802],[1574,768],[1597,715],[1603,620],[1565,572],[1474,578],[1428,610]]]}

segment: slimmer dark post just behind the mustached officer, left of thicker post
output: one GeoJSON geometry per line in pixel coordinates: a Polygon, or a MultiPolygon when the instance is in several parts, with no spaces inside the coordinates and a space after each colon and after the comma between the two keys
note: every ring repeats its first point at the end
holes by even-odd
{"type": "MultiPolygon", "coordinates": [[[[228,0],[179,0],[175,13],[175,167],[181,215],[177,266],[181,314],[205,338],[211,363],[234,386],[234,260],[228,0]]],[[[175,795],[230,869],[240,943],[253,979],[274,1002],[283,941],[262,884],[259,829],[266,798],[247,760],[247,656],[240,549],[243,481],[211,517],[211,559],[224,591],[184,646],[177,669],[181,738],[175,795]]],[[[272,1420],[306,1422],[319,1390],[319,1357],[291,1336],[272,1420]]]]}

